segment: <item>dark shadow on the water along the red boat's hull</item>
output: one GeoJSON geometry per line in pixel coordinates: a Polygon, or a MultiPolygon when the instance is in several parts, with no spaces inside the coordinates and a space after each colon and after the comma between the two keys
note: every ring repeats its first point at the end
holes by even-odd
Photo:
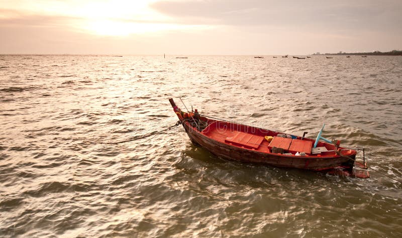
{"type": "Polygon", "coordinates": [[[185,173],[182,179],[213,179],[227,185],[272,186],[291,181],[328,180],[351,182],[353,178],[329,172],[316,172],[298,168],[274,167],[266,164],[228,160],[207,149],[188,142],[174,165],[185,173]]]}

